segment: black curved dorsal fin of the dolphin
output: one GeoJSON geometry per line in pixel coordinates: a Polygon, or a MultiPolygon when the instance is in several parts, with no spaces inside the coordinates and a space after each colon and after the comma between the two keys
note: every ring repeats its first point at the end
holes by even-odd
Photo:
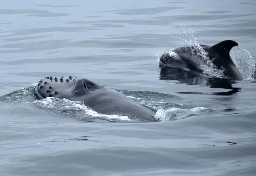
{"type": "Polygon", "coordinates": [[[216,54],[220,54],[222,56],[229,57],[229,52],[231,48],[234,46],[238,46],[238,44],[233,40],[224,40],[218,44],[213,45],[210,48],[210,52],[215,52],[216,54]]]}

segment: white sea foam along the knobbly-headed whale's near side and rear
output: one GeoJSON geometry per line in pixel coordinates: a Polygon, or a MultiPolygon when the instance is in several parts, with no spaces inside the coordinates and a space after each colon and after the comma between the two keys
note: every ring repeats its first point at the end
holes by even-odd
{"type": "MultiPolygon", "coordinates": [[[[132,99],[138,99],[132,97],[132,99]]],[[[84,105],[83,102],[80,101],[70,101],[67,99],[59,99],[59,98],[52,98],[47,97],[42,100],[35,100],[33,102],[36,106],[40,106],[41,108],[51,109],[57,113],[63,113],[67,115],[71,115],[74,118],[78,118],[81,120],[86,120],[88,118],[100,118],[107,121],[112,122],[138,122],[136,118],[129,117],[129,116],[121,116],[121,115],[106,115],[100,114],[94,111],[92,108],[89,108],[84,105]]],[[[155,102],[155,103],[164,103],[155,102]]],[[[141,103],[145,105],[145,103],[141,103]]],[[[148,104],[148,103],[146,103],[148,104]]],[[[149,106],[149,105],[148,105],[149,106]]],[[[204,108],[204,107],[196,107],[196,108],[168,108],[163,109],[160,108],[157,110],[155,118],[159,121],[169,121],[169,120],[180,120],[189,116],[200,115],[211,111],[211,108],[204,108]]]]}

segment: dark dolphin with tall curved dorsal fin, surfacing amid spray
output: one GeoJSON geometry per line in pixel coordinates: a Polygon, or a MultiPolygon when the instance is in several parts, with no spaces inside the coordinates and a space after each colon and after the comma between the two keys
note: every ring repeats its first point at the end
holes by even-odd
{"type": "Polygon", "coordinates": [[[204,56],[207,56],[217,69],[223,71],[227,78],[242,80],[240,71],[229,55],[234,46],[238,46],[235,41],[225,40],[213,46],[200,44],[200,47],[191,45],[173,48],[162,54],[159,59],[159,67],[172,68],[174,71],[177,69],[173,68],[178,68],[180,72],[192,70],[204,74],[204,69],[201,66],[208,64],[207,60],[204,60],[204,56]]]}

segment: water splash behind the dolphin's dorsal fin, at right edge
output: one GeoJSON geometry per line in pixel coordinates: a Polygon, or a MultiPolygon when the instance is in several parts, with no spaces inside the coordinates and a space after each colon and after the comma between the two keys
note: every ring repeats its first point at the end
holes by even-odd
{"type": "Polygon", "coordinates": [[[253,81],[255,72],[255,60],[251,56],[250,52],[239,46],[234,46],[230,50],[229,55],[236,65],[236,68],[242,74],[244,80],[253,81]]]}

